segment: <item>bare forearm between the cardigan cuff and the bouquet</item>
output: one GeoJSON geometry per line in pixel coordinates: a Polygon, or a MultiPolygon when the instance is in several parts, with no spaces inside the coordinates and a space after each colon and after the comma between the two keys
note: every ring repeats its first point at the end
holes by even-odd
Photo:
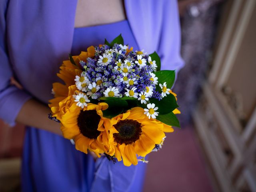
{"type": "Polygon", "coordinates": [[[62,136],[60,124],[48,118],[50,108],[36,100],[28,100],[21,108],[16,122],[40,128],[62,136]]]}

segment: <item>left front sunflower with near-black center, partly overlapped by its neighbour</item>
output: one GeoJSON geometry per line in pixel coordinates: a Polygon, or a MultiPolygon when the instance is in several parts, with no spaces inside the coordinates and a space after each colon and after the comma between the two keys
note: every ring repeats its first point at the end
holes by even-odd
{"type": "Polygon", "coordinates": [[[106,135],[104,124],[108,124],[106,121],[109,119],[103,118],[102,110],[108,108],[108,104],[88,103],[88,106],[82,109],[76,105],[74,99],[71,99],[69,104],[66,102],[66,105],[67,110],[59,118],[64,138],[74,139],[77,150],[86,154],[91,150],[100,157],[105,148],[97,138],[106,135]]]}

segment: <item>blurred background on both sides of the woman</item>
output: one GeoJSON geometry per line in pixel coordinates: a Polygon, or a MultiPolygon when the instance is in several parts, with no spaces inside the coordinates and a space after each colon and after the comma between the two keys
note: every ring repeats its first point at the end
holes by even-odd
{"type": "MultiPolygon", "coordinates": [[[[256,192],[256,0],[179,0],[181,129],[149,155],[145,192],[256,192]]],[[[0,121],[0,192],[20,191],[25,128],[0,121]]]]}

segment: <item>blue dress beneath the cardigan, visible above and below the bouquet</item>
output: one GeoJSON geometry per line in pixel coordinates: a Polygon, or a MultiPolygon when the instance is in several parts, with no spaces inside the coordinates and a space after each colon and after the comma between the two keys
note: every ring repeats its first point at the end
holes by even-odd
{"type": "MultiPolygon", "coordinates": [[[[75,28],[72,55],[93,45],[111,42],[122,34],[124,44],[138,50],[127,20],[100,26],[75,28]]],[[[94,162],[63,137],[27,127],[22,162],[24,192],[108,192],[142,190],[145,164],[125,167],[106,158],[94,162]]]]}

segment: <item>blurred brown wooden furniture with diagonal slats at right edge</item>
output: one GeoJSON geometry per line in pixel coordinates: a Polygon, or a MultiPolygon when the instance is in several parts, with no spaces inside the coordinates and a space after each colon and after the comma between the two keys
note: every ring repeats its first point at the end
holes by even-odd
{"type": "Polygon", "coordinates": [[[220,191],[256,192],[256,0],[228,0],[195,127],[220,191]]]}

